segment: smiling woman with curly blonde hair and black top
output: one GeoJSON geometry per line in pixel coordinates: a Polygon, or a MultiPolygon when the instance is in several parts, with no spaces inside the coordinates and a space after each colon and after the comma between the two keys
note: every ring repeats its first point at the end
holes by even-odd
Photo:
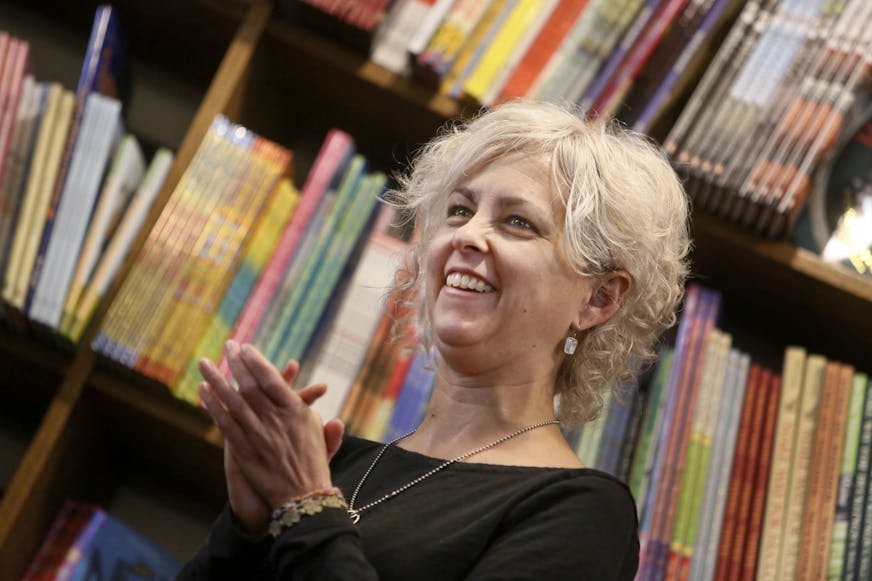
{"type": "Polygon", "coordinates": [[[204,361],[201,395],[230,506],[180,578],[632,579],[629,490],[559,424],[595,417],[674,323],[688,208],[669,164],[517,102],[437,137],[396,194],[421,233],[425,419],[387,446],[343,438],[309,408],[324,386],[288,388],[296,363],[228,344],[238,392],[204,361]]]}

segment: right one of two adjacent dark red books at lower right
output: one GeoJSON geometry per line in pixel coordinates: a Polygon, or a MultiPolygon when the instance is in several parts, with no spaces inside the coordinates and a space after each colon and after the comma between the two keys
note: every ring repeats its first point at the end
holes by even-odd
{"type": "Polygon", "coordinates": [[[781,398],[781,376],[765,370],[768,378],[766,414],[763,419],[763,434],[760,438],[760,458],[757,477],[751,492],[751,516],[748,518],[748,538],[745,542],[745,558],[741,579],[754,579],[757,574],[757,555],[763,532],[763,515],[766,509],[766,492],[769,489],[769,470],[772,466],[772,449],[775,445],[775,426],[778,423],[778,403],[781,398]]]}

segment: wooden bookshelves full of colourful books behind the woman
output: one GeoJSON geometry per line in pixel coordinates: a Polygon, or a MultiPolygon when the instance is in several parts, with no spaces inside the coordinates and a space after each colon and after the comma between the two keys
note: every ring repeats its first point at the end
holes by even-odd
{"type": "Polygon", "coordinates": [[[866,0],[0,0],[0,578],[172,577],[225,502],[192,362],[228,338],[414,425],[376,200],[517,97],[649,134],[693,201],[679,325],[566,434],[631,485],[639,578],[870,578],[870,60],[866,0]]]}

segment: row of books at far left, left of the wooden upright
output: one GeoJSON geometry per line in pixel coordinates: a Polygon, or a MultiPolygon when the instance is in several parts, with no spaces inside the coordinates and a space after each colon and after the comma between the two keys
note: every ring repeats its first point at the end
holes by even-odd
{"type": "Polygon", "coordinates": [[[172,162],[126,133],[126,55],[98,8],[78,86],[37,80],[28,41],[0,32],[0,277],[13,312],[77,340],[172,162]]]}

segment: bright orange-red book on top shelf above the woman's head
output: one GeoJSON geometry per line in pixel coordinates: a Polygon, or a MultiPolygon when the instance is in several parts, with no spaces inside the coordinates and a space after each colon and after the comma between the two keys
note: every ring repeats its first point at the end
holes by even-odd
{"type": "Polygon", "coordinates": [[[500,92],[499,102],[525,97],[572,30],[588,0],[560,0],[500,92]]]}

